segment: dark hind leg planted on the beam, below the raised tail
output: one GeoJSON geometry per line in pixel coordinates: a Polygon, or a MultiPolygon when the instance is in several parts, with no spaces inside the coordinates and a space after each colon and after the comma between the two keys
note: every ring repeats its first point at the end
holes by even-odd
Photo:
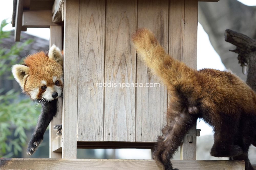
{"type": "MultiPolygon", "coordinates": [[[[180,109],[180,108],[179,108],[180,109]]],[[[187,108],[183,110],[169,110],[167,119],[170,125],[166,125],[162,129],[163,136],[158,136],[158,141],[154,148],[153,158],[161,170],[178,170],[173,169],[170,159],[177,151],[180,143],[197,120],[196,115],[189,114],[187,108]]]]}

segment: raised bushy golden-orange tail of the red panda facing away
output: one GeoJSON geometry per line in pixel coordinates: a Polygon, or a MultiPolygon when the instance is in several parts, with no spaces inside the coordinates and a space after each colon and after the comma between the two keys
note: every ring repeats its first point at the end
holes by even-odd
{"type": "Polygon", "coordinates": [[[189,86],[189,89],[196,87],[196,70],[169,56],[151,31],[138,29],[132,40],[137,54],[167,86],[170,84],[186,90],[188,87],[185,86],[189,86]]]}

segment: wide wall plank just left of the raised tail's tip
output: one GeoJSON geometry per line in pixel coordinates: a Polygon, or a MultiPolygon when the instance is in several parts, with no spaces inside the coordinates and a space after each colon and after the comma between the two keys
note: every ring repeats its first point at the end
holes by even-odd
{"type": "Polygon", "coordinates": [[[136,15],[137,0],[106,1],[105,81],[119,87],[105,87],[104,141],[135,141],[135,87],[122,83],[135,84],[136,15]]]}

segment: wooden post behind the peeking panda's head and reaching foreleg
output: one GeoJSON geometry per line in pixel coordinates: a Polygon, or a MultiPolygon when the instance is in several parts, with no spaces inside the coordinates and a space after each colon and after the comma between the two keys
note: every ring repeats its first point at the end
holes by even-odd
{"type": "MultiPolygon", "coordinates": [[[[55,44],[57,47],[62,49],[62,28],[61,26],[50,26],[50,42],[49,48],[55,44]]],[[[58,99],[58,113],[52,119],[49,125],[49,134],[50,134],[50,155],[49,158],[61,158],[60,152],[52,152],[52,141],[57,137],[56,131],[53,129],[54,125],[62,124],[62,99],[58,99]]]]}

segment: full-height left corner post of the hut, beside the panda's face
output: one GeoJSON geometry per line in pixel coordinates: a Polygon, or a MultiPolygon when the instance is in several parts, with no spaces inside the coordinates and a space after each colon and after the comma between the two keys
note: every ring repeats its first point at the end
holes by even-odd
{"type": "Polygon", "coordinates": [[[62,158],[76,158],[79,0],[66,0],[64,8],[62,158]]]}

